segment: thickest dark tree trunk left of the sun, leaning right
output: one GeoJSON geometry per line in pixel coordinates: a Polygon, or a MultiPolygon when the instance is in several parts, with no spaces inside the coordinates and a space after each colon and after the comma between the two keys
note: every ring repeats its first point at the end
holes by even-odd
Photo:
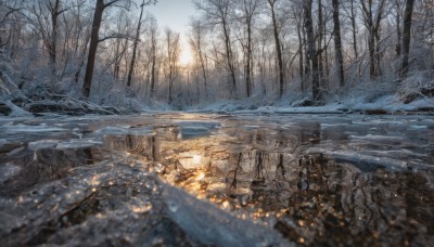
{"type": "Polygon", "coordinates": [[[104,0],[97,0],[95,10],[93,13],[92,32],[90,36],[88,63],[86,66],[85,81],[81,89],[82,95],[85,98],[89,98],[90,87],[92,86],[93,68],[94,68],[97,49],[99,43],[99,32],[104,9],[105,9],[104,0]]]}

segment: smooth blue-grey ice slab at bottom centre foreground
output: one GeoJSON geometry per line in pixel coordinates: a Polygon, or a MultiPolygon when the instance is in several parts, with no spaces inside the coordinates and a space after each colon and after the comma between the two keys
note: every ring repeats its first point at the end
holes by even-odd
{"type": "Polygon", "coordinates": [[[266,225],[238,219],[210,203],[166,184],[167,213],[191,237],[210,246],[295,246],[266,225]]]}

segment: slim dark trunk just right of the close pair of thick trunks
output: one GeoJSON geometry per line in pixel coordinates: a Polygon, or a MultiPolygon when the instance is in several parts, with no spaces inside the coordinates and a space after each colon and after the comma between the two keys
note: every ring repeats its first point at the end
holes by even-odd
{"type": "Polygon", "coordinates": [[[340,87],[345,87],[344,78],[344,58],[342,55],[342,40],[341,40],[341,22],[340,22],[340,6],[339,0],[332,0],[333,3],[333,36],[334,36],[334,53],[337,62],[340,87]]]}

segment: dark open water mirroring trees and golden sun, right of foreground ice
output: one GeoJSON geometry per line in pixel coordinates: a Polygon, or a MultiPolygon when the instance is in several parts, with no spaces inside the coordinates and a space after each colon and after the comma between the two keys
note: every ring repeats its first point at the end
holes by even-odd
{"type": "MultiPolygon", "coordinates": [[[[167,180],[235,213],[265,221],[272,216],[275,227],[299,244],[431,243],[432,169],[424,173],[391,171],[372,166],[375,160],[348,161],[316,152],[306,154],[310,147],[330,142],[342,148],[372,152],[413,143],[399,136],[378,140],[366,128],[361,133],[354,127],[339,129],[324,130],[318,122],[276,129],[248,127],[243,131],[228,128],[216,136],[194,140],[162,138],[158,152],[179,165],[165,170],[167,180]],[[373,142],[368,142],[370,139],[373,142]]],[[[379,134],[378,129],[372,131],[379,134]]]]}

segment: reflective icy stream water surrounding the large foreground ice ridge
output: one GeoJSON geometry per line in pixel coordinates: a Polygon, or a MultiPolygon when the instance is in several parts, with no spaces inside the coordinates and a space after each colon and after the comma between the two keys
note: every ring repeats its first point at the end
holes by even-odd
{"type": "MultiPolygon", "coordinates": [[[[0,161],[11,176],[2,178],[0,196],[120,156],[299,244],[434,243],[431,120],[162,115],[113,121],[74,125],[80,139],[93,140],[86,147],[69,140],[69,148],[58,148],[65,136],[78,139],[63,132],[50,134],[58,141],[43,148],[29,148],[35,140],[25,138],[2,145],[0,161]]],[[[100,190],[82,207],[108,204],[101,198],[110,195],[124,202],[128,186],[100,190]]],[[[86,220],[75,213],[68,217],[86,220]]]]}

